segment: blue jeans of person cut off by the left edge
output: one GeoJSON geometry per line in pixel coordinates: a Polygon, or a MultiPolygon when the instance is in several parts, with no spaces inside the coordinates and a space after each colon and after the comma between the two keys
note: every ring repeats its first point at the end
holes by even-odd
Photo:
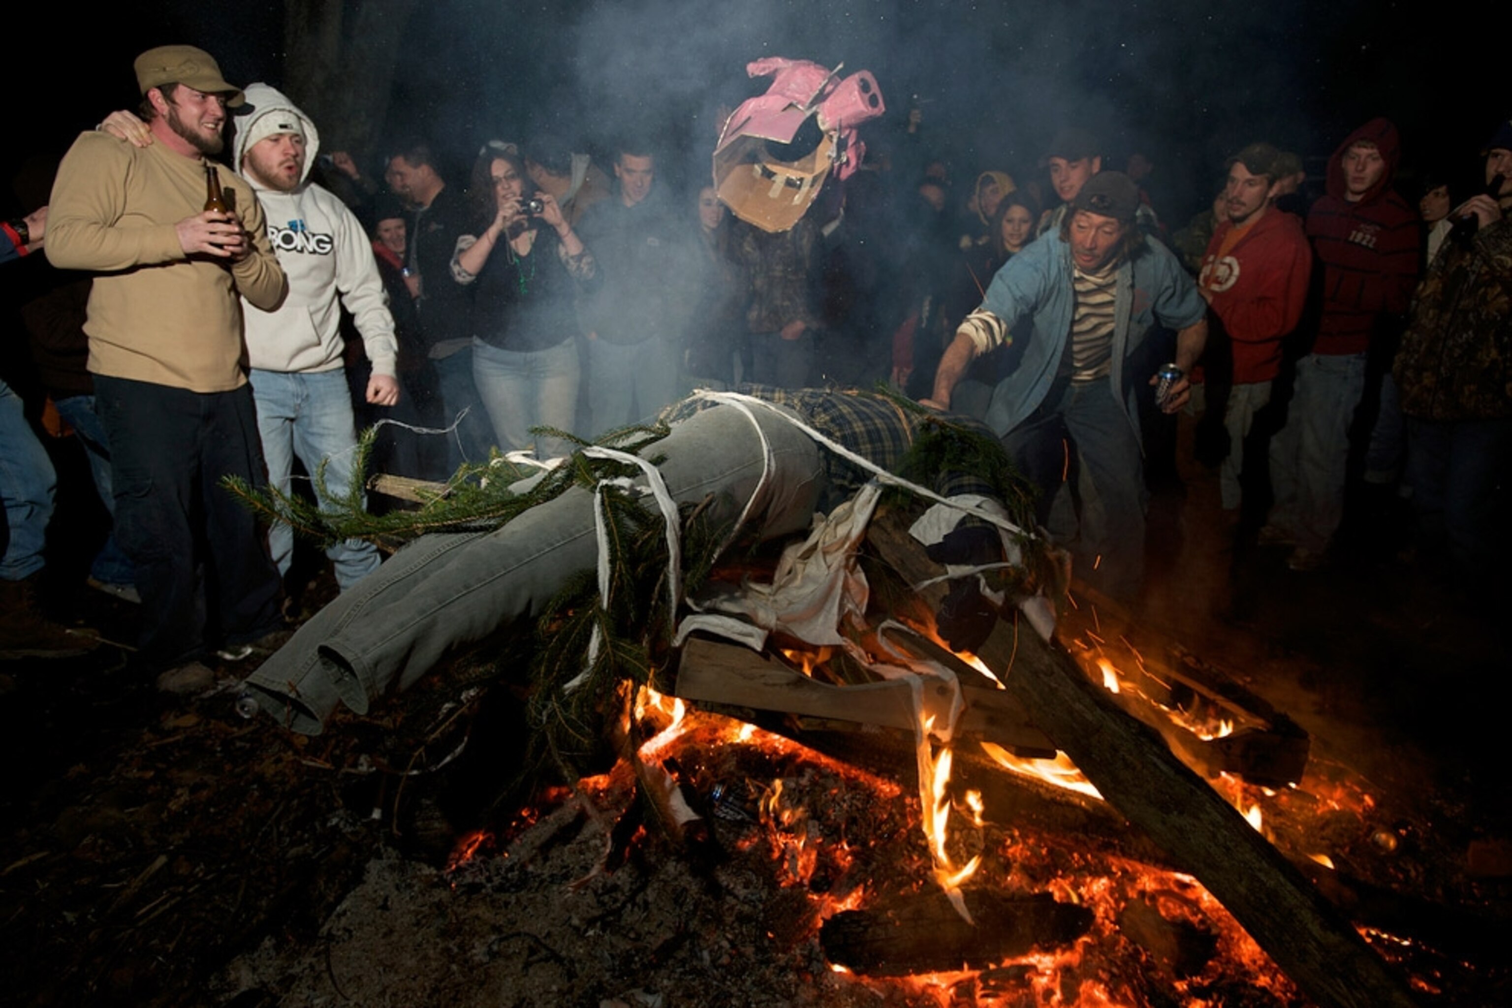
{"type": "Polygon", "coordinates": [[[21,396],[0,381],[0,497],[11,532],[0,556],[0,579],[21,580],[42,570],[56,488],[53,459],[26,422],[21,396]]]}

